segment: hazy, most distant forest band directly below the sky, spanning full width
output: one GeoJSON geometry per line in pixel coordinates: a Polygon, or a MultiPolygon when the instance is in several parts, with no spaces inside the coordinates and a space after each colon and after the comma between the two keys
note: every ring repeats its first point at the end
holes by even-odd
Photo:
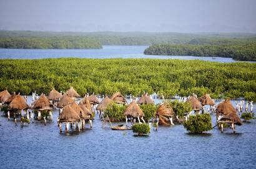
{"type": "Polygon", "coordinates": [[[212,33],[183,34],[174,32],[34,32],[0,31],[4,38],[86,37],[102,45],[152,45],[152,44],[241,44],[255,41],[256,34],[212,33]]]}

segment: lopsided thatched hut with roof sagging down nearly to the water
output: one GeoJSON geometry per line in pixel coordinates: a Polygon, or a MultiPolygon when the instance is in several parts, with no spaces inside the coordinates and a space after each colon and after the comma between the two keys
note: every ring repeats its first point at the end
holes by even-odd
{"type": "Polygon", "coordinates": [[[160,125],[174,125],[172,117],[175,115],[175,113],[169,104],[160,104],[155,115],[159,117],[160,125]]]}

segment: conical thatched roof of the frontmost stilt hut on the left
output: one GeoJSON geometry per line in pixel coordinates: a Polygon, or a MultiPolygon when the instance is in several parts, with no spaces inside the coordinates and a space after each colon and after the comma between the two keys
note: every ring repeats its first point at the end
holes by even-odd
{"type": "Polygon", "coordinates": [[[79,114],[72,109],[70,105],[66,105],[62,113],[59,115],[59,120],[61,122],[76,122],[79,119],[79,114]]]}

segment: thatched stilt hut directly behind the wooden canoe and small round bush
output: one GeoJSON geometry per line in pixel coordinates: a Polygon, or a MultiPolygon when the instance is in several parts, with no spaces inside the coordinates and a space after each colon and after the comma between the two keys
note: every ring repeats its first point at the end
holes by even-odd
{"type": "Polygon", "coordinates": [[[124,115],[126,116],[126,125],[128,125],[128,118],[130,118],[130,123],[133,124],[136,122],[136,118],[140,123],[140,119],[145,123],[144,112],[140,109],[139,105],[136,104],[135,100],[133,100],[126,110],[124,111],[124,115]]]}

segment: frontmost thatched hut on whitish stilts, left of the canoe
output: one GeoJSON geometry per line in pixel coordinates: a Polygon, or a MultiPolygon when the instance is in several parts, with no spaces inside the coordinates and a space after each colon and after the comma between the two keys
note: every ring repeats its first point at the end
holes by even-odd
{"type": "MultiPolygon", "coordinates": [[[[70,123],[76,123],[80,120],[79,114],[72,109],[71,105],[66,105],[59,115],[59,130],[62,132],[62,123],[66,123],[66,132],[69,132],[70,123]]],[[[80,126],[79,126],[80,127],[80,126]]]]}

